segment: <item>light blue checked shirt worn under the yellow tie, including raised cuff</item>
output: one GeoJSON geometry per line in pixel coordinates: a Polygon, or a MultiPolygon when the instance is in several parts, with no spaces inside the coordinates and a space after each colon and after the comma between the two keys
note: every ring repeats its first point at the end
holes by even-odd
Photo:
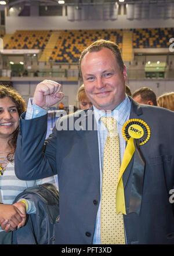
{"type": "MultiPolygon", "coordinates": [[[[124,101],[117,106],[111,113],[104,113],[103,111],[95,108],[94,115],[97,123],[97,130],[98,130],[98,141],[99,141],[99,162],[100,162],[100,195],[102,195],[102,169],[103,169],[103,152],[104,152],[104,144],[107,138],[107,129],[104,126],[103,122],[101,122],[100,118],[102,116],[112,116],[117,120],[117,129],[119,134],[119,148],[120,148],[120,159],[122,161],[126,141],[122,136],[122,126],[124,123],[129,120],[129,115],[131,112],[131,101],[129,100],[128,96],[126,95],[124,101]]],[[[37,105],[32,105],[32,99],[29,99],[27,112],[26,112],[26,119],[37,118],[39,116],[45,115],[47,111],[43,108],[40,108],[37,105]]],[[[95,226],[95,234],[93,237],[93,244],[101,244],[100,242],[100,224],[101,224],[101,197],[100,197],[100,204],[99,209],[97,212],[96,218],[96,226],[95,226]]]]}

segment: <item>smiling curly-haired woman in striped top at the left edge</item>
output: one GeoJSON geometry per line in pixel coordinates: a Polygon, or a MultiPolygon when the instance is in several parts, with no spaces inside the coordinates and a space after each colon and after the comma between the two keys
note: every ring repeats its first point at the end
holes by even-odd
{"type": "MultiPolygon", "coordinates": [[[[0,244],[11,244],[16,228],[26,223],[26,213],[35,213],[31,200],[20,198],[13,204],[18,194],[27,187],[52,183],[54,177],[39,180],[19,180],[14,173],[14,152],[19,133],[19,116],[26,110],[26,104],[13,88],[0,85],[0,244]],[[5,225],[6,224],[6,225],[5,225]]],[[[28,152],[29,154],[29,152],[28,152]]]]}

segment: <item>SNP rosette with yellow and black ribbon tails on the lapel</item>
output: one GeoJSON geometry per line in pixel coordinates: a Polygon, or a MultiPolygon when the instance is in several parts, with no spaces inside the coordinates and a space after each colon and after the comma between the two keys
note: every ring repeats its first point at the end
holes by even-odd
{"type": "Polygon", "coordinates": [[[117,214],[119,214],[119,212],[122,212],[122,214],[126,215],[124,184],[122,182],[122,175],[124,174],[129,163],[131,162],[132,157],[134,157],[129,213],[136,212],[137,214],[139,214],[142,201],[145,166],[145,160],[143,158],[142,152],[140,151],[139,145],[143,145],[148,141],[148,139],[150,138],[150,129],[147,123],[143,120],[129,119],[122,127],[122,134],[128,143],[126,145],[124,157],[122,159],[121,168],[119,171],[118,185],[116,191],[116,212],[117,214]]]}

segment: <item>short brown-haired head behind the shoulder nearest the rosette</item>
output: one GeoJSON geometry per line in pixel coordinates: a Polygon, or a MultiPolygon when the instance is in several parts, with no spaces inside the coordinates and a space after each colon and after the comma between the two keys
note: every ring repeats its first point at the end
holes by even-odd
{"type": "Polygon", "coordinates": [[[148,87],[142,87],[137,89],[133,94],[134,101],[140,104],[146,104],[151,106],[157,106],[157,97],[153,90],[148,87]]]}

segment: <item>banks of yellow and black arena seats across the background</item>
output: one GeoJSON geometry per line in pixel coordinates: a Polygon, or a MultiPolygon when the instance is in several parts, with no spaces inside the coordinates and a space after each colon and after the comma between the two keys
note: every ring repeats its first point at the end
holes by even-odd
{"type": "MultiPolygon", "coordinates": [[[[132,48],[168,48],[169,38],[173,37],[173,28],[161,29],[130,29],[126,33],[132,33],[132,48]]],[[[81,52],[97,39],[111,40],[123,50],[123,38],[125,31],[122,29],[103,30],[16,30],[5,44],[5,49],[44,49],[47,45],[46,61],[61,63],[77,63],[81,52]],[[53,34],[57,39],[52,43],[53,34]],[[48,42],[52,47],[49,47],[48,42]],[[50,48],[50,49],[49,49],[50,48]]],[[[129,34],[130,34],[129,33],[129,34]]],[[[1,37],[4,34],[1,33],[1,37]]],[[[128,48],[128,47],[126,47],[128,48]]],[[[40,59],[43,61],[44,56],[40,59]]],[[[131,59],[130,59],[131,61],[131,59]]]]}

